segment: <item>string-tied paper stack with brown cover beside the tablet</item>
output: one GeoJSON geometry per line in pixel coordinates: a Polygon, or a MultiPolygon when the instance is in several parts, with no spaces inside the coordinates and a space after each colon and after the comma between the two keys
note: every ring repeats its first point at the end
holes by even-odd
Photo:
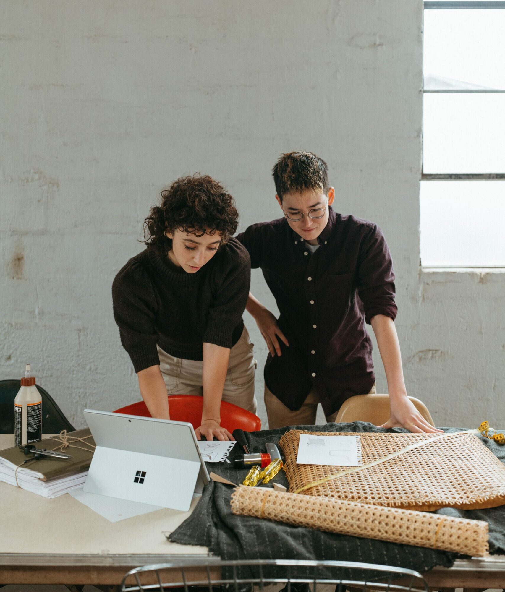
{"type": "MultiPolygon", "coordinates": [[[[67,441],[69,446],[63,452],[72,456],[70,459],[42,457],[23,464],[33,455],[25,455],[16,446],[0,451],[0,481],[48,498],[82,487],[88,475],[95,442],[89,429],[68,433],[67,441]],[[79,448],[72,446],[74,442],[79,448]]],[[[39,449],[52,450],[57,446],[58,442],[53,439],[36,443],[39,449]]]]}

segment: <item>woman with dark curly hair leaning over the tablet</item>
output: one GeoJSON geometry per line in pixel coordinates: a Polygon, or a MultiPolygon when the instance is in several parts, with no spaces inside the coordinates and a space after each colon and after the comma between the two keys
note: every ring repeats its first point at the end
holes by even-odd
{"type": "Polygon", "coordinates": [[[231,440],[220,405],[253,413],[255,361],[242,314],[250,259],[231,235],[233,197],[210,176],[188,176],[162,191],[144,223],[147,249],[112,284],[121,343],[153,417],[170,419],[168,394],[203,395],[197,438],[231,440]]]}

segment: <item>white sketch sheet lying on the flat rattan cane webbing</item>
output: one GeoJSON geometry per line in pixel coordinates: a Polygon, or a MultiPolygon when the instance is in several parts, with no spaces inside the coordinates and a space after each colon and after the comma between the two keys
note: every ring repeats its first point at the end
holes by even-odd
{"type": "Polygon", "coordinates": [[[298,465],[358,466],[361,461],[359,436],[300,435],[298,465]]]}

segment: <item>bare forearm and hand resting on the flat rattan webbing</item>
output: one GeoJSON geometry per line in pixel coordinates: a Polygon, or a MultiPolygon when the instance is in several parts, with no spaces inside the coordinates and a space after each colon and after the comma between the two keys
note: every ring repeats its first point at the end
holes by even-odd
{"type": "Polygon", "coordinates": [[[442,432],[430,426],[407,396],[400,343],[393,319],[384,314],[376,314],[371,318],[371,324],[381,352],[390,397],[390,419],[379,427],[405,427],[410,432],[417,433],[442,432]]]}

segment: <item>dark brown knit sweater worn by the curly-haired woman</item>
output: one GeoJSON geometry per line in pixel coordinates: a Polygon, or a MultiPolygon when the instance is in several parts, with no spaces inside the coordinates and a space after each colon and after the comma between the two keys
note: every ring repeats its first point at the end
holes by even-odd
{"type": "Polygon", "coordinates": [[[232,348],[249,286],[249,254],[234,238],[195,274],[175,271],[152,248],[131,258],[112,283],[112,303],[135,372],[159,364],[156,343],[187,360],[203,358],[204,342],[232,348]]]}

